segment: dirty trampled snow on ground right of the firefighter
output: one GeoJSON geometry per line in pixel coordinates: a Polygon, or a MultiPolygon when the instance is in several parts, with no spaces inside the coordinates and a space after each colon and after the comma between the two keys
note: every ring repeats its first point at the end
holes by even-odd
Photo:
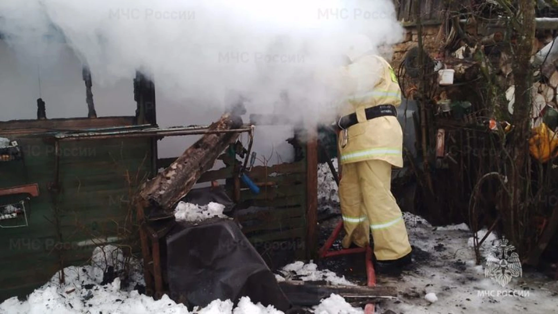
{"type": "MultiPolygon", "coordinates": [[[[542,274],[523,272],[507,286],[484,275],[484,261],[475,263],[472,233],[466,225],[432,227],[423,218],[404,213],[415,265],[400,278],[378,274],[378,286],[398,289],[398,299],[379,305],[379,313],[558,313],[558,283],[542,274]],[[434,298],[436,297],[436,298],[434,298]],[[434,302],[432,302],[434,301],[434,302]]],[[[478,232],[479,240],[487,233],[478,232]]],[[[490,234],[481,246],[488,256],[499,244],[490,234]]]]}

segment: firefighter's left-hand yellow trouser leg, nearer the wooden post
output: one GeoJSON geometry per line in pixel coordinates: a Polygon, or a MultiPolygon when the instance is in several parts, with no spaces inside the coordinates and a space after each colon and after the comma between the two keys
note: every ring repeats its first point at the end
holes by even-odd
{"type": "Polygon", "coordinates": [[[339,200],[341,202],[341,215],[345,237],[341,241],[343,248],[347,249],[351,242],[364,247],[370,240],[370,223],[364,211],[362,193],[355,164],[343,165],[341,169],[341,182],[339,182],[339,200]]]}

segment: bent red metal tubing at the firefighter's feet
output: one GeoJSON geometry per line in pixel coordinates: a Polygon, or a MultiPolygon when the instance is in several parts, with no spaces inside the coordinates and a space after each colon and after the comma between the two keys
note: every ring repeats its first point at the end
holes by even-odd
{"type": "MultiPolygon", "coordinates": [[[[365,254],[365,263],[366,263],[366,276],[367,276],[367,286],[368,287],[375,287],[376,286],[376,272],[374,272],[374,265],[372,264],[372,248],[367,246],[366,248],[355,248],[355,249],[341,249],[337,251],[330,251],[333,242],[339,236],[339,233],[343,229],[343,221],[340,221],[338,225],[335,227],[331,235],[329,236],[328,240],[325,241],[324,246],[318,251],[320,258],[328,258],[330,256],[339,256],[345,254],[355,254],[355,253],[366,253],[365,254]]],[[[364,307],[365,314],[374,314],[374,304],[369,303],[364,307]]]]}

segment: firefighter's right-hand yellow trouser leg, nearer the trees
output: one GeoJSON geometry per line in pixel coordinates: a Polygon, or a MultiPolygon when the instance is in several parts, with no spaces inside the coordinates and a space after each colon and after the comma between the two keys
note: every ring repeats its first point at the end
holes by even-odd
{"type": "Polygon", "coordinates": [[[411,252],[405,221],[391,193],[391,164],[383,160],[356,163],[362,184],[374,255],[378,260],[402,258],[411,252]]]}

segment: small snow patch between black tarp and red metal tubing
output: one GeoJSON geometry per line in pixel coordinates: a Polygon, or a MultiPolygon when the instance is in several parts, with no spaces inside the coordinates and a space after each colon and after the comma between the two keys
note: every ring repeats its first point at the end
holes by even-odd
{"type": "Polygon", "coordinates": [[[318,270],[318,265],[312,263],[312,261],[308,264],[305,264],[303,261],[295,261],[295,263],[291,263],[283,267],[280,272],[284,276],[281,277],[281,281],[296,277],[303,281],[325,280],[329,284],[356,286],[354,283],[345,279],[345,276],[339,277],[334,272],[331,272],[331,270],[318,270]]]}

